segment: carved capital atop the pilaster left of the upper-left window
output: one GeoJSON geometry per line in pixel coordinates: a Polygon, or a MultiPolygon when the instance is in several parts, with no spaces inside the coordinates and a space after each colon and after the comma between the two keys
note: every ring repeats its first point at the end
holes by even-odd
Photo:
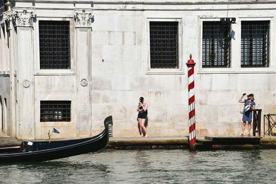
{"type": "Polygon", "coordinates": [[[23,10],[23,12],[15,12],[16,26],[32,27],[33,19],[36,16],[37,14],[34,11],[27,12],[27,10],[23,10]]]}

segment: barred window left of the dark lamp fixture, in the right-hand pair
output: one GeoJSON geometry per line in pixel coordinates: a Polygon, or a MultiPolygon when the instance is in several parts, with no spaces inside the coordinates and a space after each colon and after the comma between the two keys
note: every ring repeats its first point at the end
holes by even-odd
{"type": "Polygon", "coordinates": [[[202,67],[230,67],[231,24],[204,21],[202,35],[202,67]]]}

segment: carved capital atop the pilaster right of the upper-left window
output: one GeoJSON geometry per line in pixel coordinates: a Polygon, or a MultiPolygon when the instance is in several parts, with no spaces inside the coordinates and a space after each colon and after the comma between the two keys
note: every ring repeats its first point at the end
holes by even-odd
{"type": "Polygon", "coordinates": [[[94,15],[92,14],[92,12],[86,12],[86,10],[75,10],[74,18],[76,22],[76,27],[91,28],[93,16],[94,15]]]}

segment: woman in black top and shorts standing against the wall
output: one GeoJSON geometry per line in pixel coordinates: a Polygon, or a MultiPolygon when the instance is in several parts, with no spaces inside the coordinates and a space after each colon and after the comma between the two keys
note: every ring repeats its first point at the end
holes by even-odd
{"type": "MultiPolygon", "coordinates": [[[[139,121],[140,130],[141,130],[140,132],[144,130],[144,132],[146,132],[145,137],[148,137],[148,130],[146,130],[146,127],[145,127],[146,116],[148,115],[148,104],[145,103],[144,97],[140,97],[137,111],[138,111],[137,119],[139,121]]],[[[144,136],[143,133],[141,133],[140,136],[144,136]]]]}

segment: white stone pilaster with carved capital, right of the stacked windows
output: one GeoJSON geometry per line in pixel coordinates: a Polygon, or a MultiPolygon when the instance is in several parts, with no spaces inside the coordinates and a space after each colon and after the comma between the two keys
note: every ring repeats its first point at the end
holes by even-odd
{"type": "Polygon", "coordinates": [[[75,10],[77,45],[77,131],[90,136],[91,127],[91,32],[92,11],[75,10]]]}

